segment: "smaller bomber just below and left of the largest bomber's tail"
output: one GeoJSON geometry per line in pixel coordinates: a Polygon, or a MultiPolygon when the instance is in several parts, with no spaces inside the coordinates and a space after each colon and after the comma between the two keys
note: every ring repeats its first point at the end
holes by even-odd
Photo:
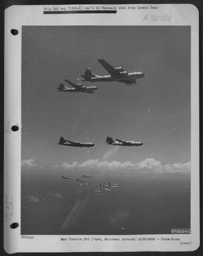
{"type": "Polygon", "coordinates": [[[68,88],[64,86],[63,82],[60,82],[59,86],[57,87],[58,92],[87,92],[87,93],[94,93],[95,90],[98,90],[96,86],[85,86],[83,84],[74,84],[70,82],[70,80],[66,79],[66,82],[70,84],[74,88],[68,88]]]}

